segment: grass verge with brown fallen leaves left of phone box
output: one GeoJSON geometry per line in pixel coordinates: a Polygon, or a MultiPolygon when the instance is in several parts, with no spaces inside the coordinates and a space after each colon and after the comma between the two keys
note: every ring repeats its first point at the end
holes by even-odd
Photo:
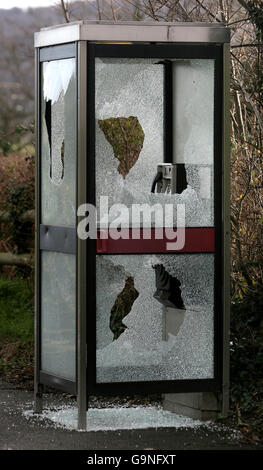
{"type": "Polygon", "coordinates": [[[0,375],[27,389],[33,387],[33,282],[0,278],[0,375]]]}

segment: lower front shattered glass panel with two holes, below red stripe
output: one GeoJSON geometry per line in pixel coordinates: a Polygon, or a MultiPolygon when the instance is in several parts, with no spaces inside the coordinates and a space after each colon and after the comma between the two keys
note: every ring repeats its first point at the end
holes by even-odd
{"type": "Polygon", "coordinates": [[[213,378],[212,254],[98,255],[96,279],[97,382],[213,378]]]}

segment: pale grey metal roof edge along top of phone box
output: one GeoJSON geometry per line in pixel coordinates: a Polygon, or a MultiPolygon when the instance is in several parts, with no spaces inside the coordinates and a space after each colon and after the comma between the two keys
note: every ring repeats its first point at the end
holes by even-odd
{"type": "Polygon", "coordinates": [[[229,28],[198,22],[80,21],[43,28],[35,33],[35,47],[75,41],[131,41],[162,43],[221,43],[229,41],[229,28]]]}

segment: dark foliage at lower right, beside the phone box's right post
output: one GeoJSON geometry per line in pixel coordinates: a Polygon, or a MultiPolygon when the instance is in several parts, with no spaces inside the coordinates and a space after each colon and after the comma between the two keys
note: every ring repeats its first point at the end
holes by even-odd
{"type": "Polygon", "coordinates": [[[231,400],[242,412],[263,417],[263,286],[231,309],[231,400]]]}

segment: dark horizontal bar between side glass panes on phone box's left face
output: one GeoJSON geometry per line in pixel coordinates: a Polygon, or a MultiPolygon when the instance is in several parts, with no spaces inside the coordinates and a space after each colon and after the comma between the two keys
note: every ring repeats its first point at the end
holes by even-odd
{"type": "Polygon", "coordinates": [[[55,225],[40,225],[40,250],[76,254],[76,229],[55,225]]]}

